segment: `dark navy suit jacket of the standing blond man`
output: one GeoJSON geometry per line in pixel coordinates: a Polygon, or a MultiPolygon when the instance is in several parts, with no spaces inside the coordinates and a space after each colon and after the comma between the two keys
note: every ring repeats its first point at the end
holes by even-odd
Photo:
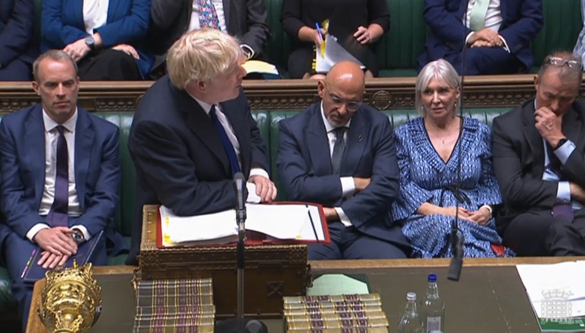
{"type": "MultiPolygon", "coordinates": [[[[266,145],[246,95],[220,103],[240,144],[242,172],[269,170],[266,145]]],[[[128,264],[136,264],[142,206],[163,204],[178,216],[215,213],[236,200],[228,155],[211,119],[187,92],[164,75],[144,93],[128,138],[136,167],[136,207],[128,264]]]]}

